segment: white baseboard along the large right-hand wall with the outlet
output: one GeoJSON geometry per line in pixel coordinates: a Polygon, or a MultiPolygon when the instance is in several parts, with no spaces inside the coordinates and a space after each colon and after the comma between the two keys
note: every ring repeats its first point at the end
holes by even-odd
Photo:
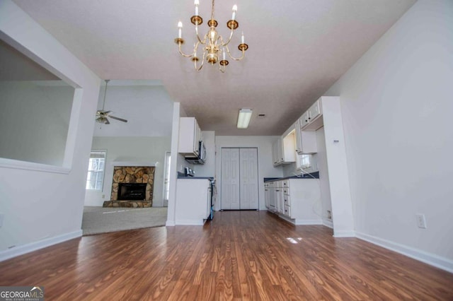
{"type": "Polygon", "coordinates": [[[430,264],[431,266],[435,266],[436,268],[442,268],[442,270],[453,273],[453,260],[451,259],[424,252],[419,249],[405,246],[403,244],[398,244],[396,242],[391,242],[389,240],[383,240],[382,238],[367,235],[361,232],[356,232],[356,237],[360,238],[360,240],[365,240],[367,242],[371,242],[372,244],[377,244],[379,247],[384,247],[399,254],[411,257],[415,260],[422,261],[425,264],[430,264]]]}

